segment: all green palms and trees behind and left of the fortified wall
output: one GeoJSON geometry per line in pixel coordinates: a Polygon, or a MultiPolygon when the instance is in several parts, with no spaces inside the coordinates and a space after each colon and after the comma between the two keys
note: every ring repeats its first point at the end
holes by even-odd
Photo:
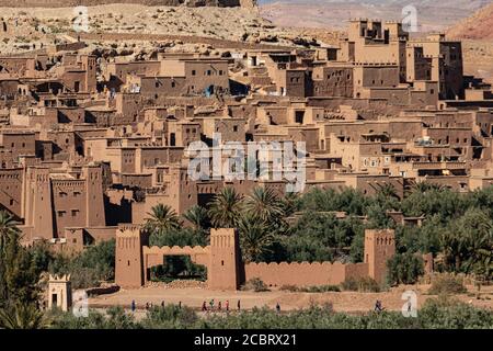
{"type": "MultiPolygon", "coordinates": [[[[18,224],[0,213],[0,320],[30,326],[39,321],[38,301],[44,272],[71,273],[76,288],[114,278],[114,240],[77,256],[54,253],[49,245],[20,245],[18,224]],[[33,321],[34,320],[34,321],[33,321]]],[[[404,199],[392,186],[375,195],[353,189],[312,189],[306,194],[278,196],[255,188],[245,196],[225,188],[207,205],[179,216],[159,204],[148,214],[150,245],[205,246],[211,227],[236,227],[243,260],[342,261],[363,260],[365,228],[394,228],[397,254],[388,262],[388,283],[413,283],[423,273],[421,253],[438,257],[440,271],[467,273],[490,281],[493,275],[493,188],[456,193],[420,183],[404,199]],[[424,216],[423,225],[403,226],[388,215],[424,216]],[[336,218],[335,212],[345,212],[336,218]]],[[[205,275],[190,259],[173,257],[153,270],[154,279],[205,275]]]]}

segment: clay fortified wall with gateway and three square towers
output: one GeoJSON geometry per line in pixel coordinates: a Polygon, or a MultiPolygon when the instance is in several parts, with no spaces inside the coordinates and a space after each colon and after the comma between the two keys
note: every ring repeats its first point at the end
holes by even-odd
{"type": "Polygon", "coordinates": [[[210,290],[234,291],[259,278],[268,286],[339,285],[348,279],[369,276],[381,283],[386,262],[395,253],[393,230],[365,231],[365,262],[243,263],[238,231],[211,229],[206,247],[149,247],[148,236],[138,226],[123,226],[116,233],[115,282],[122,287],[146,285],[150,269],[164,263],[165,256],[190,256],[207,268],[210,290]]]}

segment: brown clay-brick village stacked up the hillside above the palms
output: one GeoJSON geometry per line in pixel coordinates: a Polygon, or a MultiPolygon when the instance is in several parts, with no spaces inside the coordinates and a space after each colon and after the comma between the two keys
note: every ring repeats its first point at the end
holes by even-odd
{"type": "MultiPolygon", "coordinates": [[[[141,224],[157,203],[181,214],[225,186],[191,180],[187,146],[305,141],[306,190],[492,184],[493,95],[462,73],[460,42],[408,38],[397,22],[354,20],[337,47],[160,53],[125,61],[84,43],[0,58],[0,203],[27,241],[82,248],[141,224]]],[[[221,147],[219,145],[218,147],[221,147]]]]}

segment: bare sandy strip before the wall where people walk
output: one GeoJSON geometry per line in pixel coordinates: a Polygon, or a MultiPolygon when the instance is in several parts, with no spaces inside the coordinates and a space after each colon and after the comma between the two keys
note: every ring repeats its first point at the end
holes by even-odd
{"type": "MultiPolygon", "coordinates": [[[[408,290],[413,290],[417,294],[419,307],[429,297],[427,295],[428,285],[410,285],[399,286],[389,292],[383,293],[354,293],[354,292],[330,292],[330,293],[290,293],[284,291],[270,291],[262,293],[254,292],[223,292],[209,291],[205,288],[167,288],[164,286],[148,286],[136,290],[121,290],[111,295],[100,295],[89,299],[89,304],[93,308],[104,308],[108,306],[123,306],[129,308],[131,301],[135,299],[138,308],[145,308],[146,303],[153,305],[161,305],[173,303],[186,305],[199,309],[203,302],[208,302],[214,298],[216,306],[221,301],[225,306],[226,301],[229,301],[230,307],[236,309],[237,302],[241,301],[242,309],[251,309],[253,307],[267,306],[275,308],[279,303],[283,310],[293,310],[309,307],[311,304],[323,305],[332,304],[335,312],[346,313],[362,313],[371,310],[375,302],[380,299],[389,310],[400,310],[405,303],[401,299],[402,293],[408,290]]],[[[468,286],[469,293],[457,295],[456,297],[474,306],[493,308],[493,286],[483,287],[481,291],[481,299],[475,297],[475,290],[473,286],[468,286]]]]}

